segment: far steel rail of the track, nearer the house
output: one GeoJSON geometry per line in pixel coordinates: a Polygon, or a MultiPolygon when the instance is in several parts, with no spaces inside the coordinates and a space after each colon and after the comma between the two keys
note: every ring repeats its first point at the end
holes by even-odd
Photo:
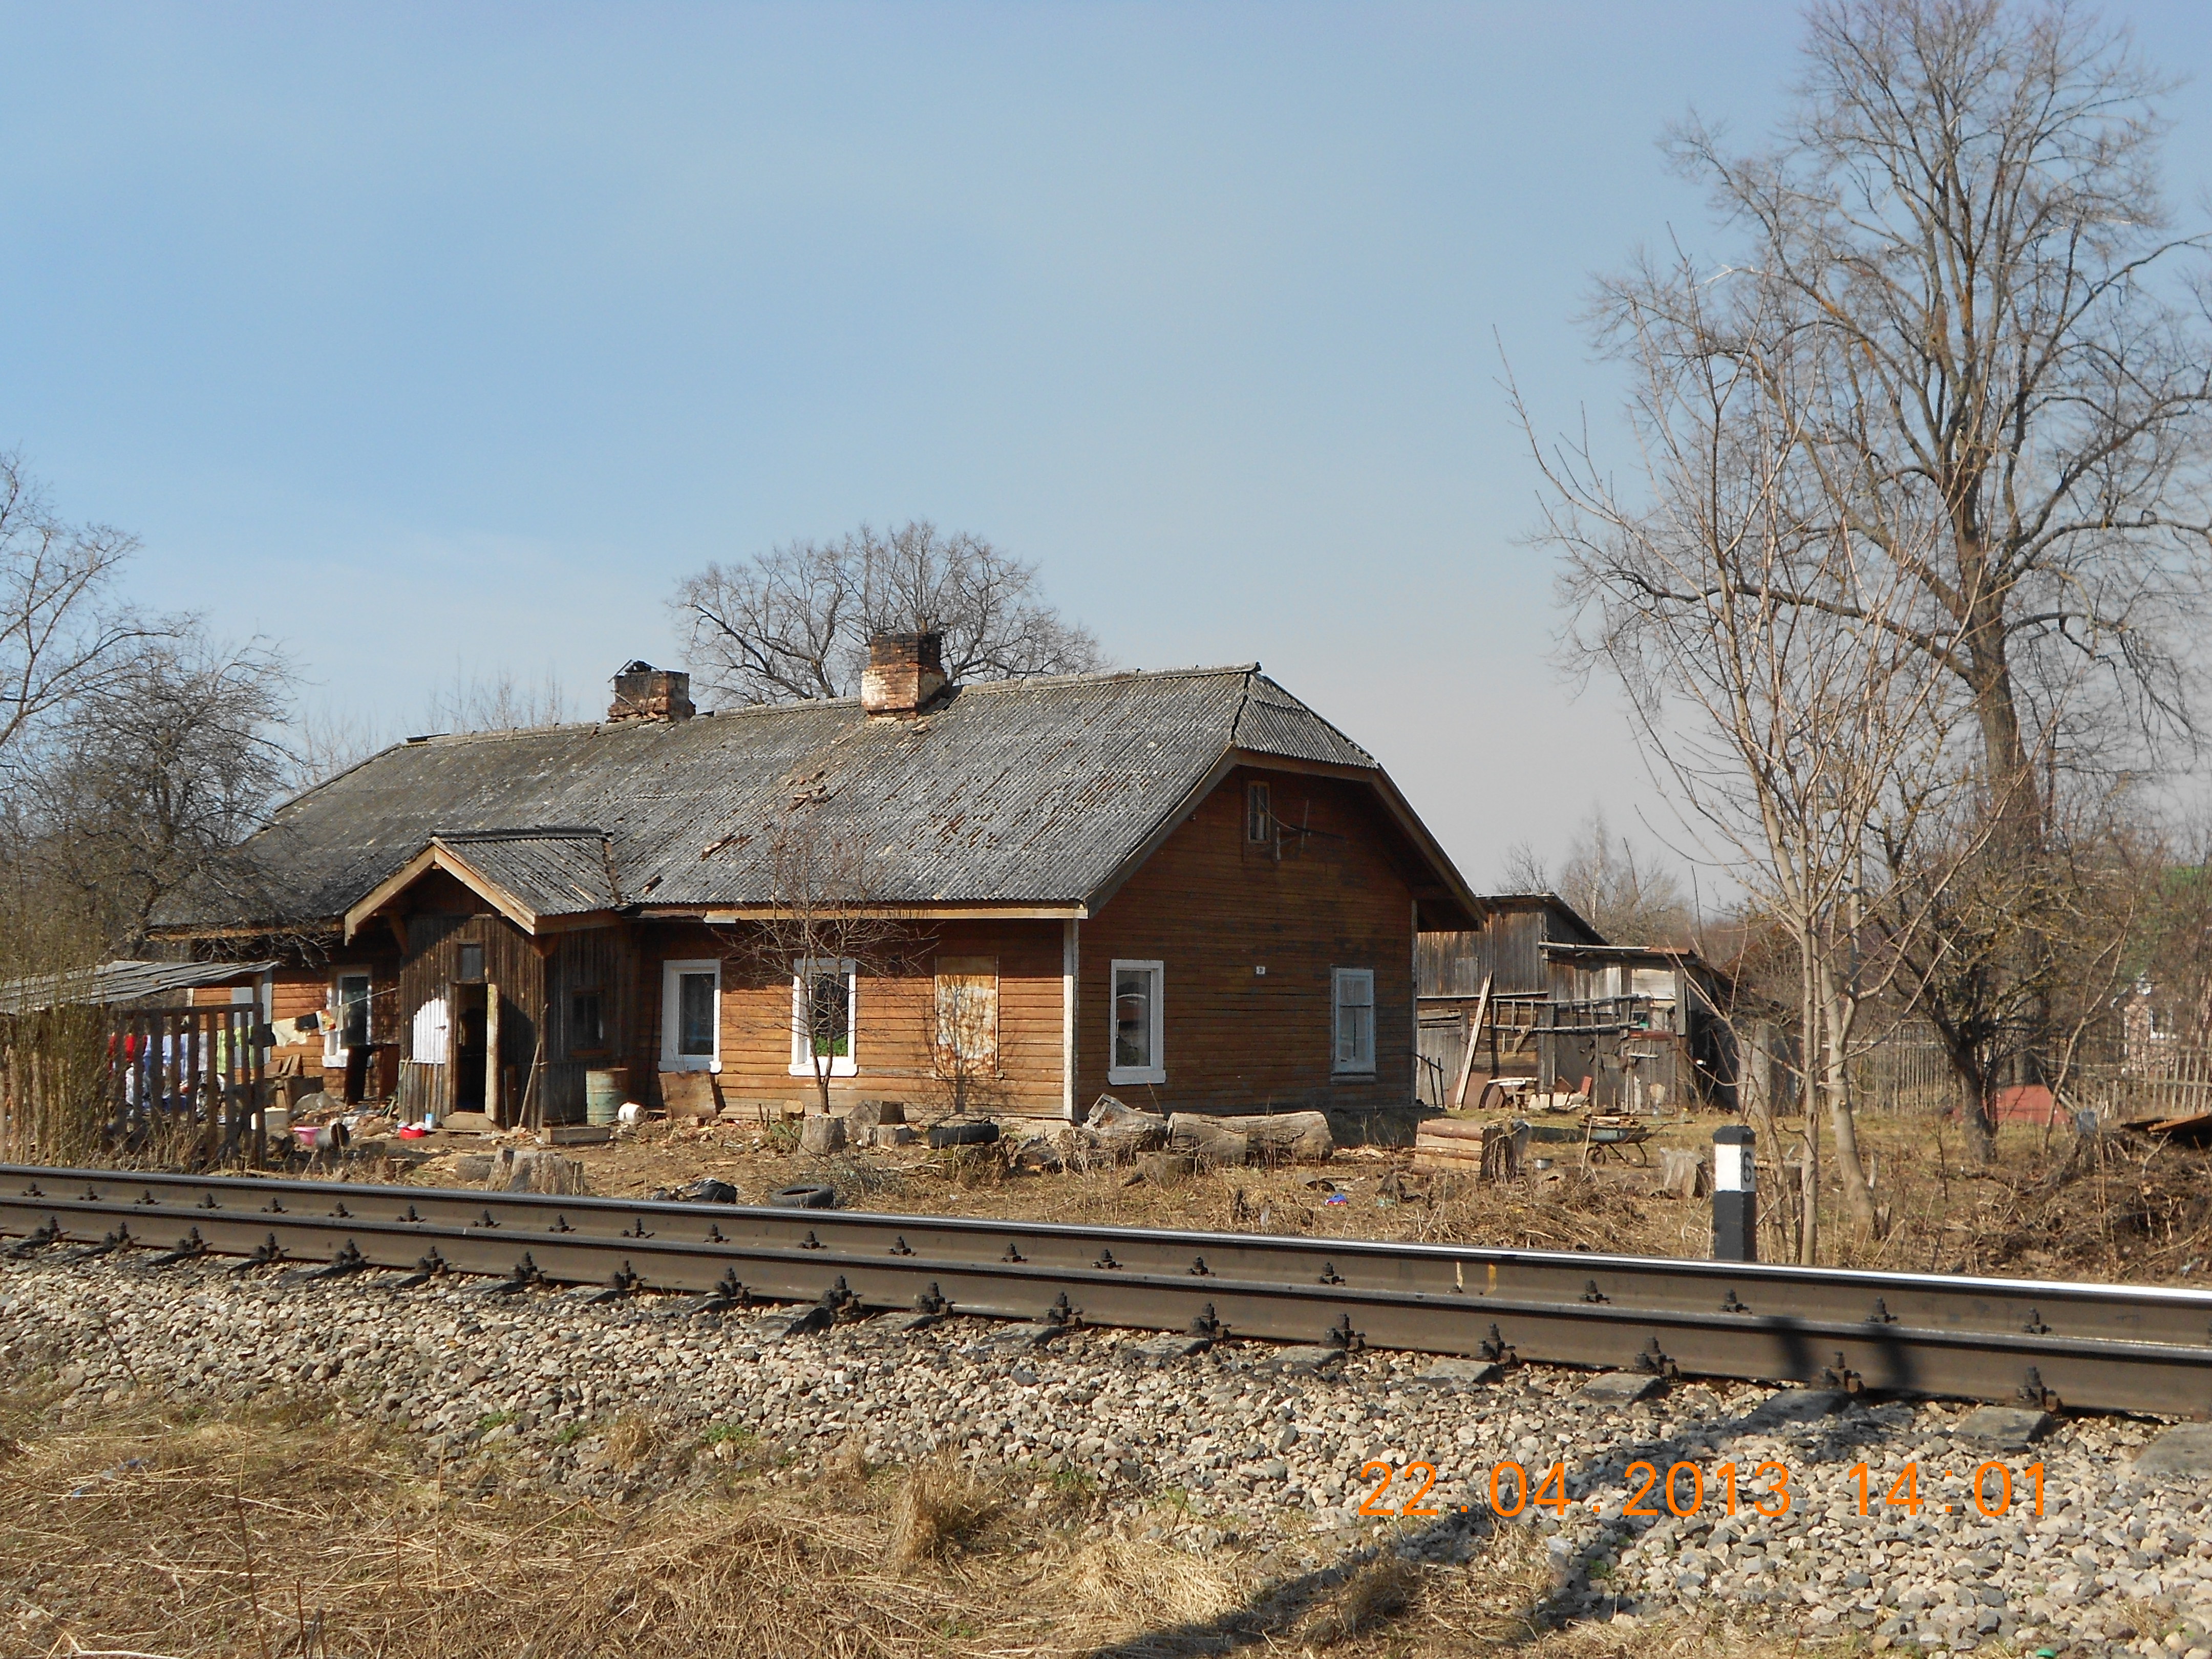
{"type": "Polygon", "coordinates": [[[268,1203],[285,1214],[411,1219],[436,1225],[544,1230],[553,1221],[586,1237],[814,1239],[847,1254],[1044,1267],[1113,1263],[1128,1272],[1234,1281],[1340,1283],[1349,1290],[1475,1294],[1533,1303],[1663,1310],[1681,1314],[1787,1314],[1814,1323],[1874,1321],[1913,1329],[2177,1343],[2212,1349],[2212,1292],[2163,1285],[2093,1285],[2026,1279],[1798,1267],[1792,1263],[1604,1256],[1559,1250],[1305,1239],[1172,1228],[1102,1228],[978,1217],[779,1210],[655,1199],[544,1197],[352,1181],[276,1181],[221,1175],[0,1166],[0,1206],[35,1199],[84,1208],[128,1194],[135,1203],[199,1208],[268,1203]]]}

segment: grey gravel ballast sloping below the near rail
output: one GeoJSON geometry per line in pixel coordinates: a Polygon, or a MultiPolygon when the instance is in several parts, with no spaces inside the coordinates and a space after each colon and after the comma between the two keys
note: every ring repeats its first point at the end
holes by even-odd
{"type": "MultiPolygon", "coordinates": [[[[1555,1367],[1480,1383],[1480,1367],[1422,1354],[1285,1365],[1285,1349],[1263,1343],[1186,1354],[1188,1343],[1102,1329],[1015,1340],[960,1316],[772,1338],[776,1310],[692,1316],[672,1296],[588,1305],[577,1292],[489,1296],[471,1279],[400,1292],[372,1276],[285,1283],[230,1267],[9,1261],[0,1374],[55,1385],[64,1418],[135,1391],[330,1398],[416,1436],[449,1482],[604,1502],[650,1498],[699,1467],[743,1462],[761,1480],[803,1482],[838,1458],[909,1462],[949,1447],[1031,1482],[1033,1498],[1053,1482],[1095,1489],[1099,1531],[1261,1551],[1283,1568],[1385,1526],[1358,1513],[1380,1480],[1360,1475],[1367,1462],[1433,1464],[1427,1504],[1440,1515],[1398,1522],[1398,1548],[1433,1559],[1480,1546],[1493,1467],[1515,1460],[1555,1495],[1542,1482],[1562,1462],[1564,1515],[1526,1504],[1500,1522],[1544,1535],[1562,1621],[1725,1608],[1776,1630],[1858,1632],[1874,1648],[2212,1659],[2212,1478],[2135,1471],[2163,1427],[2148,1420],[2062,1416],[2026,1449],[1997,1451],[1962,1433],[1969,1407],[1942,1402],[1785,1391],[1767,1407],[1774,1389],[1701,1383],[1606,1402],[1586,1398],[1590,1374],[1555,1367]],[[622,1420],[648,1425],[664,1453],[617,1458],[608,1431],[622,1420]],[[1644,1482],[1624,1471],[1639,1460],[1659,1475],[1694,1464],[1703,1509],[1677,1517],[1652,1486],[1644,1504],[1657,1517],[1624,1515],[1644,1482]],[[1752,1511],[1774,1484],[1754,1478],[1767,1460],[1790,1469],[1778,1517],[1752,1511]],[[1882,1502],[1909,1460],[1918,1515],[1882,1502]],[[1858,1462],[1871,1515],[1858,1513],[1858,1462]],[[2002,1517],[1971,1498],[1984,1462],[2011,1471],[2002,1517]],[[2042,1517],[2026,1475],[2037,1462],[2042,1517]],[[1723,1464],[1739,1471],[1734,1515],[1723,1464]]],[[[1690,1484],[1679,1471],[1686,1506],[1690,1484]]],[[[1394,1480],[1387,1502],[1418,1486],[1394,1480]]],[[[1991,1498],[1995,1486],[1991,1473],[1991,1498]]],[[[1515,1495],[1502,1475],[1502,1502],[1515,1495]]]]}

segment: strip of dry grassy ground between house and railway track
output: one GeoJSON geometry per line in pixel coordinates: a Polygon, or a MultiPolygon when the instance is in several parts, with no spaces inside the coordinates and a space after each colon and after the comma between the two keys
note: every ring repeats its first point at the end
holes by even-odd
{"type": "MultiPolygon", "coordinates": [[[[1652,1148],[1710,1148],[1719,1115],[1666,1124],[1652,1148]]],[[[1840,1212],[1834,1164],[1823,1152],[1820,1261],[1900,1272],[2031,1279],[2203,1283],[2212,1265],[2212,1152],[2108,1130],[2090,1141],[2070,1128],[2006,1124],[1986,1170],[1969,1166],[1962,1137],[1942,1119],[1867,1113],[1860,1141],[1887,1225],[1854,1232],[1840,1212]]],[[[1338,1148],[1327,1164],[1203,1170],[1155,1186],[1126,1166],[1037,1172],[1000,1155],[918,1146],[807,1157],[783,1126],[657,1124],[608,1146],[564,1148],[591,1192],[644,1197],[699,1177],[728,1181],[759,1203],[781,1186],[834,1186],[838,1203],[909,1214],[975,1214],[1097,1225],[1210,1228],[1340,1239],[1599,1250],[1708,1256],[1712,1206],[1659,1190],[1648,1166],[1606,1159],[1584,1168],[1568,1124],[1540,1124],[1533,1157],[1553,1168],[1506,1183],[1425,1170],[1411,1150],[1338,1148]],[[1555,1135],[1557,1139],[1542,1139],[1555,1135]]],[[[363,1159],[356,1179],[456,1186],[456,1161],[498,1141],[431,1135],[407,1161],[363,1159]]],[[[365,1148],[367,1150],[367,1148],[365,1148]]],[[[1763,1161],[1761,1186],[1778,1186],[1763,1161]]],[[[1763,1203],[1761,1254],[1785,1259],[1781,1206],[1763,1203]]]]}

